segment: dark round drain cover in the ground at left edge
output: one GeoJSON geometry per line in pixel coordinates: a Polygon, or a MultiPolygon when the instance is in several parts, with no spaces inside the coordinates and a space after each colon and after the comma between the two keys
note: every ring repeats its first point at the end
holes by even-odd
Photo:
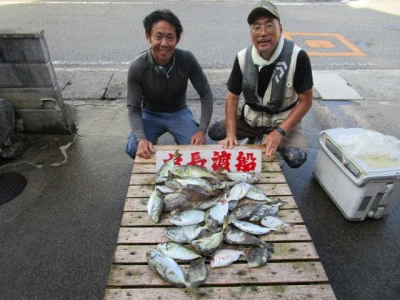
{"type": "Polygon", "coordinates": [[[25,188],[26,179],[18,173],[0,173],[0,205],[17,197],[25,188]]]}

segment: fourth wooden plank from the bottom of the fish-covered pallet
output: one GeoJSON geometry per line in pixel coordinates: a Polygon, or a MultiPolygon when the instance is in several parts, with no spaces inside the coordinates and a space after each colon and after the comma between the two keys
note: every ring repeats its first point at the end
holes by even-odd
{"type": "MultiPolygon", "coordinates": [[[[167,242],[165,227],[121,227],[117,244],[158,244],[167,242]]],[[[288,233],[275,233],[260,236],[266,242],[311,241],[305,225],[294,225],[288,233]]]]}

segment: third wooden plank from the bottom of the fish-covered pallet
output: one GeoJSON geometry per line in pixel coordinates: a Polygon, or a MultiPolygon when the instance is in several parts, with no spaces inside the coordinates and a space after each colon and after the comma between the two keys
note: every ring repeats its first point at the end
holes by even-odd
{"type": "MultiPolygon", "coordinates": [[[[269,261],[288,260],[316,260],[317,251],[311,242],[301,243],[274,243],[274,251],[269,255],[269,261]]],[[[225,245],[224,248],[235,249],[233,245],[225,245]]],[[[117,246],[114,253],[114,263],[140,264],[146,263],[146,252],[156,249],[156,245],[123,245],[117,246]]]]}

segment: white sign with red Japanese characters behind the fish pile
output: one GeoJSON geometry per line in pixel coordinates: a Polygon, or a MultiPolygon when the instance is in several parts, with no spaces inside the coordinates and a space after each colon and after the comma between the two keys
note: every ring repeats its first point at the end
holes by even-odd
{"type": "MultiPolygon", "coordinates": [[[[156,171],[174,156],[174,150],[157,151],[156,171]]],[[[182,154],[175,165],[198,165],[210,171],[261,172],[261,150],[256,149],[220,149],[220,150],[179,150],[182,154]]]]}

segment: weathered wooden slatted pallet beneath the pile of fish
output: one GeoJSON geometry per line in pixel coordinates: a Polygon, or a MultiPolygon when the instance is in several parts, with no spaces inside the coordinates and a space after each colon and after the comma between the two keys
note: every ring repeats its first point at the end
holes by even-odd
{"type": "MultiPolygon", "coordinates": [[[[156,146],[157,150],[215,149],[218,146],[156,146]],[[213,147],[213,148],[212,148],[213,147]]],[[[240,146],[244,148],[257,146],[240,146]]],[[[154,274],[147,266],[146,251],[166,242],[163,230],[171,226],[169,213],[155,224],[147,215],[147,199],[154,189],[155,159],[136,159],[127,193],[114,260],[105,299],[335,299],[325,270],[304,225],[290,188],[272,157],[263,155],[261,181],[257,187],[269,197],[286,202],[279,218],[293,227],[287,233],[261,236],[272,242],[274,253],[264,267],[249,268],[240,260],[224,268],[211,269],[193,296],[154,274]]],[[[187,273],[189,264],[180,263],[187,273]]]]}

